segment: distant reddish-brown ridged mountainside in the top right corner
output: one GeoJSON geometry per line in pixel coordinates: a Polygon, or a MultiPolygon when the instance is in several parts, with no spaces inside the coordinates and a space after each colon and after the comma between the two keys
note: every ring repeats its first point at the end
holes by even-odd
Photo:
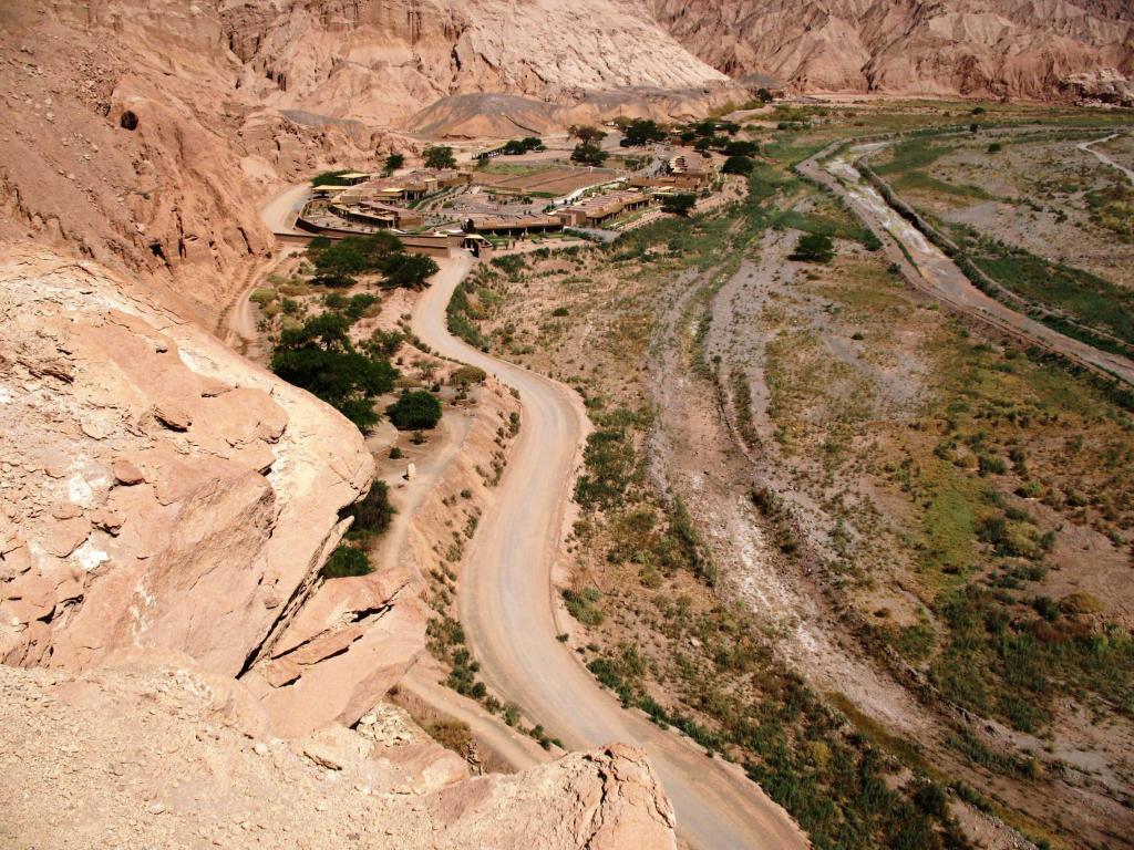
{"type": "Polygon", "coordinates": [[[1076,74],[1134,74],[1134,12],[1117,0],[649,2],[714,68],[803,91],[1044,99],[1076,74]]]}

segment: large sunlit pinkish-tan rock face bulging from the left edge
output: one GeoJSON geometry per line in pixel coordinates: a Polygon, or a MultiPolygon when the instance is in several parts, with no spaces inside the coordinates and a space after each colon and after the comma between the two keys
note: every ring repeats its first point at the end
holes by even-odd
{"type": "Polygon", "coordinates": [[[240,673],[369,486],[361,435],[96,266],[0,255],[0,654],[240,673]]]}

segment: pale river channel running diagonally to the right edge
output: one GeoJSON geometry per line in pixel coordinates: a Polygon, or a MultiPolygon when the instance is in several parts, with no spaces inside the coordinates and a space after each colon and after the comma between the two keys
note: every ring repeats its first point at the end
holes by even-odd
{"type": "Polygon", "coordinates": [[[849,160],[879,147],[878,144],[850,147],[846,154],[820,164],[823,152],[799,164],[799,170],[840,196],[855,214],[883,243],[886,237],[905,246],[916,264],[924,286],[920,287],[958,312],[1025,337],[1043,348],[1072,360],[1103,369],[1134,385],[1134,362],[1086,342],[1065,337],[1044,324],[1017,313],[978,289],[949,257],[930,243],[913,224],[903,219],[879,192],[863,179],[849,160]]]}

